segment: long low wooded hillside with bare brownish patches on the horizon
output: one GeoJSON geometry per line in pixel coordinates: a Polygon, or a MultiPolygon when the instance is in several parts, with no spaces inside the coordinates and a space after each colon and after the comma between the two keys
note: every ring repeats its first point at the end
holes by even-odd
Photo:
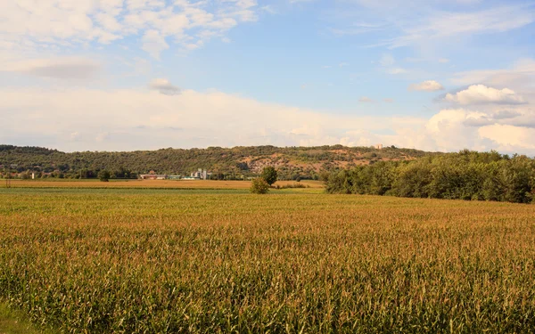
{"type": "Polygon", "coordinates": [[[379,160],[407,160],[436,154],[395,147],[376,150],[342,145],[317,147],[251,146],[157,151],[83,151],[66,153],[40,147],[0,145],[0,170],[36,171],[56,177],[95,177],[108,169],[116,177],[133,177],[153,170],[161,174],[189,175],[197,168],[217,178],[242,178],[274,166],[283,179],[319,178],[323,171],[369,165],[379,160]],[[16,165],[16,166],[14,166],[16,165]]]}

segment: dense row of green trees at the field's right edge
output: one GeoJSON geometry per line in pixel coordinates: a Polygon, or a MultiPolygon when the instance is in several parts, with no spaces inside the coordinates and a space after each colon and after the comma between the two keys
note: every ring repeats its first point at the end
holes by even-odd
{"type": "Polygon", "coordinates": [[[329,176],[330,193],[399,197],[535,201],[535,160],[498,152],[461,151],[410,162],[378,162],[329,176]]]}

